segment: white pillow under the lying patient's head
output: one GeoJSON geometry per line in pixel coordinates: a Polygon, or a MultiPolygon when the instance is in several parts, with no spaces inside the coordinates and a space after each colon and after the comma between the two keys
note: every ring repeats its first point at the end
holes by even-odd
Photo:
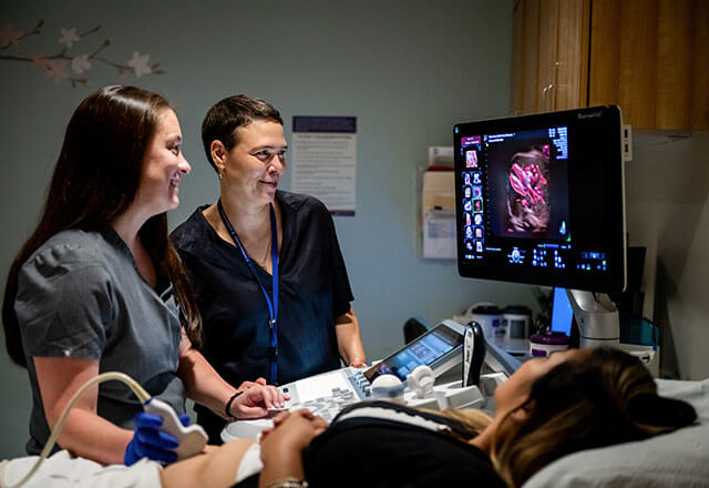
{"type": "Polygon", "coordinates": [[[541,487],[707,487],[709,485],[709,379],[657,380],[658,393],[690,403],[700,425],[650,439],[565,456],[524,484],[541,487]]]}

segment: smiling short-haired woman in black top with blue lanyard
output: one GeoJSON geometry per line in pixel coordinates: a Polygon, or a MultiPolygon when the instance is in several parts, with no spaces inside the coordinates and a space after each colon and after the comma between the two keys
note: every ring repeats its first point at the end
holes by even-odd
{"type": "MultiPolygon", "coordinates": [[[[363,366],[335,223],[317,199],[278,189],[288,144],[280,113],[246,95],[207,112],[202,141],[219,183],[172,234],[204,319],[204,355],[227,380],[284,385],[363,366]]],[[[219,443],[224,419],[196,408],[219,443]]]]}

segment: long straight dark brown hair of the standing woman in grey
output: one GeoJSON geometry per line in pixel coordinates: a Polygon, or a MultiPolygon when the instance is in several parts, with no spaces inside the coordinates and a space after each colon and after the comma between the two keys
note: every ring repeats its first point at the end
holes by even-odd
{"type": "MultiPolygon", "coordinates": [[[[169,109],[163,96],[135,87],[106,87],[74,111],[34,232],[10,267],[2,303],[2,326],[10,358],[27,367],[14,299],[24,262],[53,235],[69,228],[110,226],[131,205],[141,182],[143,156],[160,115],[169,109]]],[[[176,250],[167,237],[165,213],[150,218],[138,235],[156,272],[167,277],[181,307],[181,322],[195,347],[202,322],[176,250]]]]}

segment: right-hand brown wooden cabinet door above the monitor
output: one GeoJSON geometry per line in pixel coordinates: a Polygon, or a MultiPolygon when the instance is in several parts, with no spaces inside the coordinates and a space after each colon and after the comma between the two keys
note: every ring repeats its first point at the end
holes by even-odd
{"type": "Polygon", "coordinates": [[[589,105],[638,129],[709,129],[709,2],[594,0],[589,105]]]}

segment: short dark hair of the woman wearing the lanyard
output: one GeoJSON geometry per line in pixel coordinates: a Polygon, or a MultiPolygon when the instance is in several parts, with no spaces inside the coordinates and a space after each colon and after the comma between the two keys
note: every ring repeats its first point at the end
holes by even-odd
{"type": "Polygon", "coordinates": [[[217,171],[217,166],[212,159],[212,142],[222,141],[226,150],[230,151],[239,142],[236,130],[256,120],[284,124],[280,112],[261,99],[242,94],[227,96],[212,105],[202,122],[202,143],[214,171],[217,171]]]}

